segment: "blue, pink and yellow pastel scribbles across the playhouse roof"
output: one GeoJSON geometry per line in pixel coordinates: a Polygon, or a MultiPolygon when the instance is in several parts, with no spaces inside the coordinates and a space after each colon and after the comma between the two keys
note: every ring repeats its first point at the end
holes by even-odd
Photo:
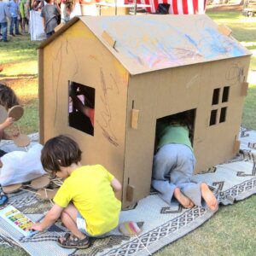
{"type": "Polygon", "coordinates": [[[211,20],[198,18],[193,22],[195,29],[189,31],[165,20],[115,16],[99,20],[99,26],[116,40],[119,54],[140,67],[177,67],[246,54],[236,40],[218,32],[211,20]]]}

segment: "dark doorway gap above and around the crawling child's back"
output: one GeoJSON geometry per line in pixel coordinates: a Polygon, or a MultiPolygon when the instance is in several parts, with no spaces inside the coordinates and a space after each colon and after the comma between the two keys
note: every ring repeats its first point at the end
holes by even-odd
{"type": "Polygon", "coordinates": [[[166,125],[186,125],[189,128],[189,139],[193,146],[194,141],[194,127],[195,127],[195,113],[196,109],[190,109],[184,112],[175,113],[168,115],[166,117],[156,119],[156,128],[155,128],[155,140],[154,140],[154,152],[157,151],[157,146],[159,143],[159,133],[163,127],[166,125]]]}

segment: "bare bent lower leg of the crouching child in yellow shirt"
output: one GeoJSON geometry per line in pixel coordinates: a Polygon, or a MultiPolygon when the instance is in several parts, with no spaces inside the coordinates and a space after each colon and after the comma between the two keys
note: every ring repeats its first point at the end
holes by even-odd
{"type": "Polygon", "coordinates": [[[61,213],[61,221],[74,236],[79,237],[79,239],[84,239],[85,235],[80,232],[77,227],[77,214],[77,208],[70,203],[61,213]]]}

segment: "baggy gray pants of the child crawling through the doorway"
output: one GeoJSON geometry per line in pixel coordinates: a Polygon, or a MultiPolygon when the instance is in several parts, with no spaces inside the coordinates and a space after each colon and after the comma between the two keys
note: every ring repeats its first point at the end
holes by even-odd
{"type": "Polygon", "coordinates": [[[179,188],[183,195],[201,207],[201,183],[191,181],[194,167],[195,156],[188,146],[167,144],[154,155],[152,186],[169,204],[174,189],[179,188]]]}

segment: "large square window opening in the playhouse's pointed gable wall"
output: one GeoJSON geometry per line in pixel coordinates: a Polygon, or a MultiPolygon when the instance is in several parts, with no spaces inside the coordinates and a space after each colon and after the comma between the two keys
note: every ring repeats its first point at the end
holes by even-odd
{"type": "Polygon", "coordinates": [[[68,95],[68,125],[94,136],[95,89],[69,81],[68,95]]]}

